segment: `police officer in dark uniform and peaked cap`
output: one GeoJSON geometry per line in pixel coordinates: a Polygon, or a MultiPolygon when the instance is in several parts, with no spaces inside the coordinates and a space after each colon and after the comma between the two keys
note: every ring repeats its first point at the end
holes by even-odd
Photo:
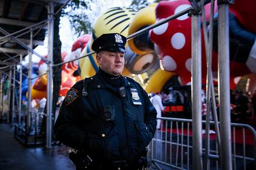
{"type": "Polygon", "coordinates": [[[95,39],[98,72],[75,83],[62,103],[54,130],[60,142],[84,153],[86,164],[77,169],[146,168],[157,111],[140,84],[121,75],[125,45],[118,33],[95,39]]]}

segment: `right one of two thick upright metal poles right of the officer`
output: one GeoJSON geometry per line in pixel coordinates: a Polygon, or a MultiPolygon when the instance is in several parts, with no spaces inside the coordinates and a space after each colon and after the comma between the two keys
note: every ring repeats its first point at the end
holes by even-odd
{"type": "Polygon", "coordinates": [[[229,4],[218,1],[218,96],[220,99],[221,169],[232,169],[229,91],[229,4]]]}

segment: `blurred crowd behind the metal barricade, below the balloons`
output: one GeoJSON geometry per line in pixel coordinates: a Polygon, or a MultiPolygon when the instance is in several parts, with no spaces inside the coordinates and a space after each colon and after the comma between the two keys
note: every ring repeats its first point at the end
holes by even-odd
{"type": "MultiPolygon", "coordinates": [[[[166,105],[185,105],[184,100],[189,100],[189,96],[184,95],[181,91],[169,89],[169,94],[157,92],[150,94],[150,100],[160,113],[164,112],[166,105]],[[161,101],[161,102],[159,102],[161,101]]],[[[202,116],[206,115],[206,93],[201,91],[202,99],[202,116]]],[[[210,116],[212,118],[212,115],[210,116]]],[[[248,123],[248,119],[256,118],[256,90],[252,97],[249,94],[243,93],[241,90],[231,90],[231,121],[237,123],[248,123]]],[[[159,121],[158,121],[159,122],[159,121]]],[[[160,127],[158,123],[158,128],[160,127]]]]}

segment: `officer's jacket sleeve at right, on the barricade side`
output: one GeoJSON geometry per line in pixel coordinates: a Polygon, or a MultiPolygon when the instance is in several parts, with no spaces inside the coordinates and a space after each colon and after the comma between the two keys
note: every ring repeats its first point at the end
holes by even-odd
{"type": "MultiPolygon", "coordinates": [[[[143,88],[141,88],[143,90],[143,88]]],[[[157,110],[152,105],[149,100],[149,96],[146,91],[143,90],[143,98],[145,102],[145,113],[144,113],[144,123],[146,123],[150,132],[152,132],[152,137],[155,135],[155,129],[157,127],[157,110]]]]}

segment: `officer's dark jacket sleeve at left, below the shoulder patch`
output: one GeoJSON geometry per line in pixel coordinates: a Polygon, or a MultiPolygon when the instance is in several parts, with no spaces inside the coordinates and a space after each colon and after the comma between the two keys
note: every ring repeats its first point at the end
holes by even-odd
{"type": "Polygon", "coordinates": [[[67,104],[65,98],[54,125],[54,132],[57,139],[64,145],[75,149],[84,149],[88,145],[87,135],[79,127],[78,114],[79,96],[69,104],[67,104]]]}

